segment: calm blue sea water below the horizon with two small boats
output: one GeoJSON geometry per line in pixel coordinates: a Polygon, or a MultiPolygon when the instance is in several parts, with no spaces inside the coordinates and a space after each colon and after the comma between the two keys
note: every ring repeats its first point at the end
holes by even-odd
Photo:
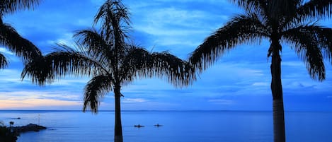
{"type": "MultiPolygon", "coordinates": [[[[332,142],[332,112],[285,112],[285,119],[289,142],[332,142]]],[[[0,121],[47,126],[21,134],[18,142],[113,141],[114,112],[3,110],[0,121]]],[[[122,127],[125,142],[273,141],[272,112],[122,112],[122,127]],[[134,128],[135,124],[145,127],[134,128]]]]}

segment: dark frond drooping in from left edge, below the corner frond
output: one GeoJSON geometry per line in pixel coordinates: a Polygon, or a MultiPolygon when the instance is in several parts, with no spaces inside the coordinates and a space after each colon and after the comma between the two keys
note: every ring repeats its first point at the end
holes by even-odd
{"type": "Polygon", "coordinates": [[[0,45],[8,49],[18,57],[23,57],[23,61],[29,62],[34,58],[42,56],[42,53],[32,42],[21,37],[14,28],[7,24],[0,24],[0,45]]]}

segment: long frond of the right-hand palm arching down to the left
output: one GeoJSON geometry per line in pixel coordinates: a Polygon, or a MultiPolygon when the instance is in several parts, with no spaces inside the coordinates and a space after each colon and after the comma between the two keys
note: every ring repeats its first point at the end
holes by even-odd
{"type": "Polygon", "coordinates": [[[202,45],[192,52],[189,61],[200,71],[205,70],[224,52],[236,45],[269,37],[269,32],[256,14],[236,16],[223,28],[219,28],[213,35],[207,37],[202,45]]]}

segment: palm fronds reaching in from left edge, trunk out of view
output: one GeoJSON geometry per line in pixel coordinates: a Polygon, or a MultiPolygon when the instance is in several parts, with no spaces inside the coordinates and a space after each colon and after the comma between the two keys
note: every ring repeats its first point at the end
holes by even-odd
{"type": "MultiPolygon", "coordinates": [[[[1,0],[0,1],[0,45],[7,47],[25,62],[41,56],[40,50],[29,40],[21,37],[11,25],[3,22],[6,14],[15,13],[21,9],[30,9],[39,4],[39,0],[1,0]]],[[[0,53],[0,69],[7,66],[6,57],[0,53]]]]}

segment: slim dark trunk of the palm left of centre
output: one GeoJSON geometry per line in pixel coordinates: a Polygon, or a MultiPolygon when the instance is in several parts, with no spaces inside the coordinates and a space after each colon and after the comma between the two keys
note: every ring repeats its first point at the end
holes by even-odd
{"type": "Polygon", "coordinates": [[[120,85],[115,86],[115,126],[114,126],[114,142],[122,142],[122,124],[121,124],[121,106],[120,106],[120,85]]]}

